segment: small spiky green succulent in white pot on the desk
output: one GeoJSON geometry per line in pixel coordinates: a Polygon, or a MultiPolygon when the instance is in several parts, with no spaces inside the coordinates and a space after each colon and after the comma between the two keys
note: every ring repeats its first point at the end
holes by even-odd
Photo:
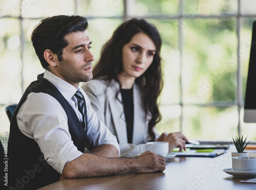
{"type": "Polygon", "coordinates": [[[237,152],[231,152],[232,157],[234,156],[248,156],[248,152],[244,152],[245,147],[248,145],[249,142],[245,144],[245,141],[247,137],[243,140],[243,135],[242,136],[236,136],[236,138],[233,138],[234,146],[236,146],[237,152]]]}

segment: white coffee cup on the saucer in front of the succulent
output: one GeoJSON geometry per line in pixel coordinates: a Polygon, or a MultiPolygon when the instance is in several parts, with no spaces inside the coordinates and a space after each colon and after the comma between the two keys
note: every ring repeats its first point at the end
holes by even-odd
{"type": "Polygon", "coordinates": [[[256,157],[232,157],[232,168],[235,172],[256,172],[256,157]]]}

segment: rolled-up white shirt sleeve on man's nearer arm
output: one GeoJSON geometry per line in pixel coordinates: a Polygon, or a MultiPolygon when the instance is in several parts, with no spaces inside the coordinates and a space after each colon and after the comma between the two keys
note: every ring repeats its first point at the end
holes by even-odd
{"type": "Polygon", "coordinates": [[[67,162],[83,154],[71,140],[66,112],[49,94],[30,93],[18,111],[17,123],[60,174],[67,162]]]}

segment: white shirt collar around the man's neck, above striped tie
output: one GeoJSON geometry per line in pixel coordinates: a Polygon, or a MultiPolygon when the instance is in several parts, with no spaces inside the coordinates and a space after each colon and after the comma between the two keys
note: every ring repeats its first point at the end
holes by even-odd
{"type": "Polygon", "coordinates": [[[76,93],[76,87],[52,74],[49,70],[45,70],[44,78],[51,82],[67,101],[76,93]]]}

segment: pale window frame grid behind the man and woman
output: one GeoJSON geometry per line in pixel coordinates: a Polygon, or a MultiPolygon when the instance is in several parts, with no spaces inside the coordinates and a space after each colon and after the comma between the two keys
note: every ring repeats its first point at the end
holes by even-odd
{"type": "MultiPolygon", "coordinates": [[[[103,17],[103,18],[121,18],[123,21],[135,17],[135,15],[130,15],[129,14],[129,9],[132,9],[131,2],[134,2],[136,0],[123,0],[123,15],[122,16],[113,16],[113,17],[103,17]]],[[[238,107],[238,115],[239,115],[239,122],[238,122],[238,133],[241,133],[241,111],[244,107],[244,101],[243,101],[243,82],[242,82],[242,76],[241,76],[241,60],[240,60],[240,31],[242,28],[242,18],[244,17],[255,17],[256,14],[248,14],[248,15],[243,15],[241,13],[241,0],[238,1],[238,13],[237,14],[229,14],[229,15],[209,15],[209,16],[202,16],[202,15],[188,15],[184,13],[184,2],[185,0],[179,0],[179,13],[176,16],[166,16],[166,15],[157,15],[157,16],[151,16],[151,15],[146,15],[146,16],[136,16],[137,18],[155,18],[155,19],[160,19],[160,18],[167,18],[167,19],[175,19],[178,20],[179,22],[179,52],[180,52],[180,78],[179,78],[179,87],[180,87],[180,103],[179,104],[169,104],[169,106],[172,105],[179,105],[181,106],[181,115],[180,115],[180,130],[182,131],[183,128],[183,109],[184,106],[201,106],[201,107],[231,107],[231,106],[237,106],[238,107]],[[207,103],[207,104],[184,104],[183,101],[183,91],[182,91],[182,55],[183,55],[183,27],[182,23],[185,18],[225,18],[225,17],[236,17],[236,22],[237,22],[237,28],[236,28],[236,35],[238,39],[238,49],[237,49],[237,89],[236,89],[236,101],[230,103],[230,102],[212,102],[212,103],[207,103]]],[[[20,0],[19,4],[19,10],[22,6],[23,0],[20,0]]],[[[77,7],[78,7],[78,0],[74,0],[74,14],[77,14],[77,7]]],[[[23,31],[23,19],[42,19],[44,17],[33,17],[33,18],[24,18],[22,16],[21,11],[19,12],[19,16],[11,16],[11,15],[5,15],[2,16],[1,18],[13,18],[13,19],[19,19],[19,28],[20,28],[20,58],[22,61],[22,70],[21,70],[21,80],[22,80],[22,90],[24,90],[24,75],[23,75],[23,68],[24,68],[24,49],[25,49],[25,38],[24,38],[24,31],[23,31]]],[[[94,19],[94,18],[102,18],[102,16],[97,17],[97,16],[88,16],[88,19],[94,19]]],[[[6,106],[5,104],[0,103],[2,106],[6,106]]]]}

